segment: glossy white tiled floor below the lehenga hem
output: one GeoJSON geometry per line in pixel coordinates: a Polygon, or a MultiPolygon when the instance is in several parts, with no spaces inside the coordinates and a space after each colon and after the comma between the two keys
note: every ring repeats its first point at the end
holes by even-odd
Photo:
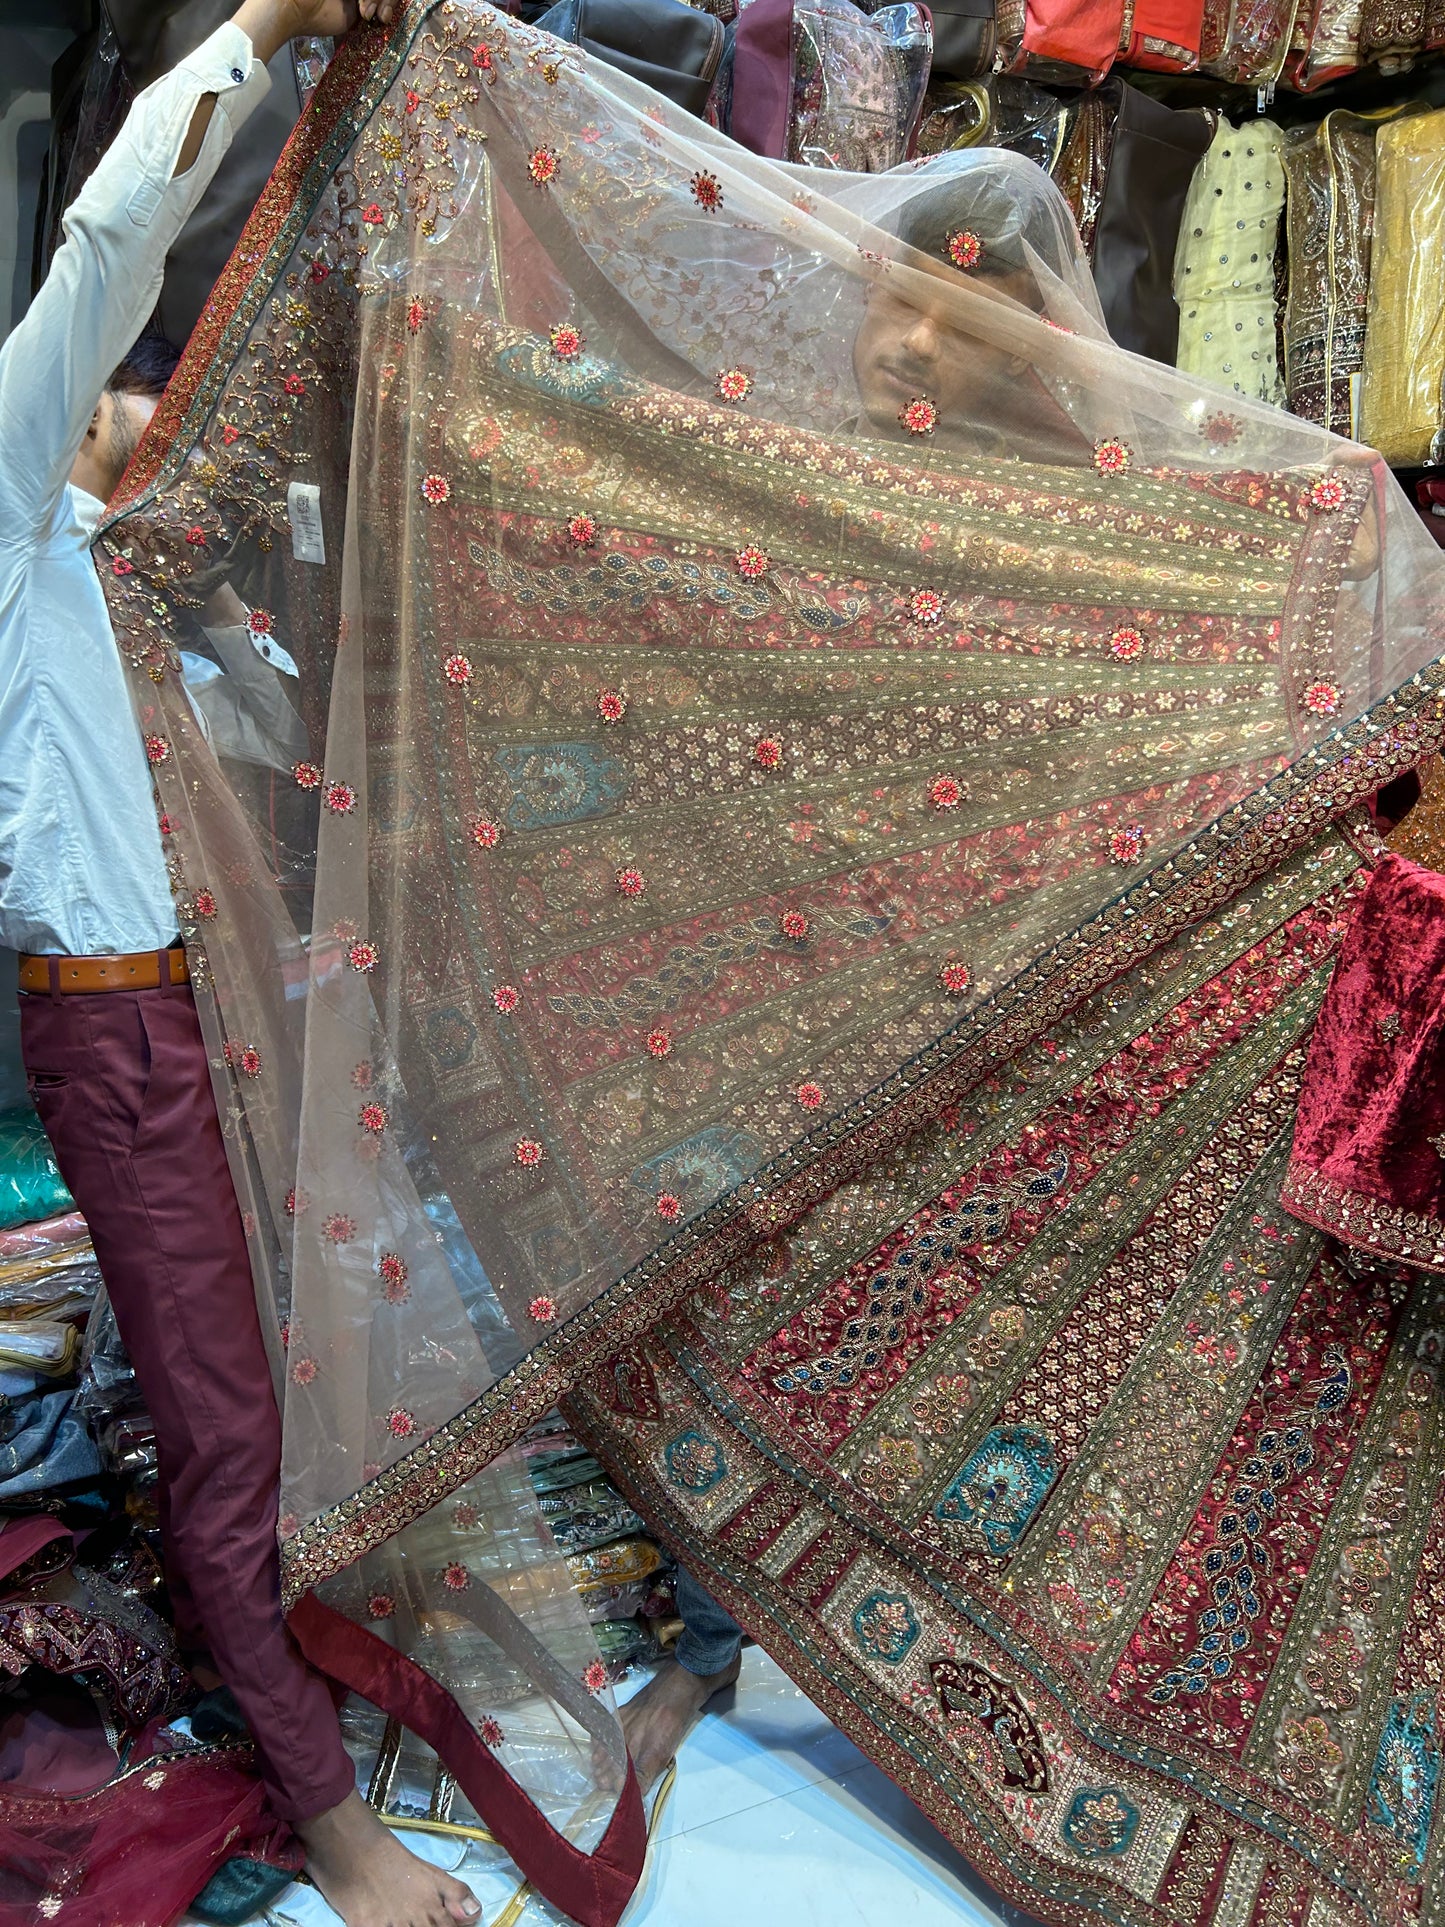
{"type": "MultiPolygon", "coordinates": [[[[408,1844],[430,1842],[410,1835],[408,1844]]],[[[443,1865],[459,1856],[435,1842],[443,1865]]],[[[495,1921],[512,1890],[501,1869],[459,1867],[495,1921]]],[[[514,1879],[514,1877],[512,1877],[514,1879]]],[[[1000,1927],[965,1861],[836,1727],[749,1648],[738,1690],[678,1754],[672,1798],[644,1888],[622,1927],[1000,1927]]],[[[555,1921],[534,1902],[520,1927],[555,1921]]],[[[335,1927],[304,1887],[272,1927],[335,1927]]]]}

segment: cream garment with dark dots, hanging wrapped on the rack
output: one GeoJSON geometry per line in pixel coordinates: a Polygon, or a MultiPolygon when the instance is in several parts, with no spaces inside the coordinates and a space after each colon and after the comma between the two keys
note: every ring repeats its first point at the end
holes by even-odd
{"type": "Polygon", "coordinates": [[[1173,264],[1175,366],[1254,401],[1279,401],[1275,243],[1285,204],[1283,135],[1229,121],[1195,170],[1173,264]]]}

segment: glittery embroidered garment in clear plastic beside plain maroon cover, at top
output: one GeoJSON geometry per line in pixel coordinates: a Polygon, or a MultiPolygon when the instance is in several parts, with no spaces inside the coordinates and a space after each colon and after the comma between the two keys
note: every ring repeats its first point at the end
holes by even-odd
{"type": "Polygon", "coordinates": [[[794,6],[788,160],[886,173],[907,158],[933,37],[917,6],[859,13],[852,0],[794,6]]]}

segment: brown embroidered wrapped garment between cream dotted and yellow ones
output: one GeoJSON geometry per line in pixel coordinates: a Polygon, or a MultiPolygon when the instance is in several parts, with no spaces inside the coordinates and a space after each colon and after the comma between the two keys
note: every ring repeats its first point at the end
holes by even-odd
{"type": "Polygon", "coordinates": [[[1306,422],[1354,432],[1379,119],[1327,114],[1285,133],[1285,403],[1306,422]]]}

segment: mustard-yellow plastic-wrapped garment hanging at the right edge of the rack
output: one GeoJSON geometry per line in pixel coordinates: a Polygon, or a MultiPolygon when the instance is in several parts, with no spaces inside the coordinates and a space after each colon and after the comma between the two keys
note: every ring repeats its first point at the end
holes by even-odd
{"type": "Polygon", "coordinates": [[[1360,436],[1387,462],[1445,461],[1445,112],[1381,127],[1360,436]]]}

